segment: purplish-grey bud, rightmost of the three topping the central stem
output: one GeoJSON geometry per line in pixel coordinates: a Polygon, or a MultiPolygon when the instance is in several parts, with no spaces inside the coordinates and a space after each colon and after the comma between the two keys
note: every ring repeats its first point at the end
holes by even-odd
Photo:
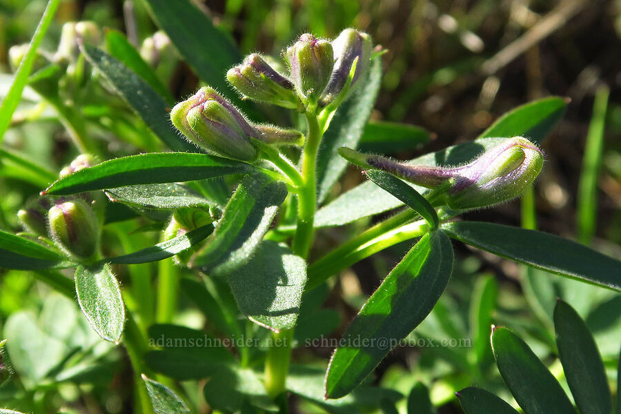
{"type": "Polygon", "coordinates": [[[351,90],[358,79],[364,76],[371,61],[373,41],[368,34],[349,28],[343,30],[334,39],[332,47],[335,63],[328,86],[326,86],[326,90],[324,90],[324,94],[320,99],[322,106],[331,103],[341,93],[350,77],[354,61],[357,61],[357,63],[349,90],[351,90]]]}

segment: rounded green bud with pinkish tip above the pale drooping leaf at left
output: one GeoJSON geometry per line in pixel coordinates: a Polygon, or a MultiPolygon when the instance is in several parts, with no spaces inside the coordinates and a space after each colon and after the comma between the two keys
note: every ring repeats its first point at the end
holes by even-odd
{"type": "Polygon", "coordinates": [[[50,235],[69,255],[88,259],[95,255],[99,224],[88,205],[79,199],[60,199],[48,213],[50,235]]]}

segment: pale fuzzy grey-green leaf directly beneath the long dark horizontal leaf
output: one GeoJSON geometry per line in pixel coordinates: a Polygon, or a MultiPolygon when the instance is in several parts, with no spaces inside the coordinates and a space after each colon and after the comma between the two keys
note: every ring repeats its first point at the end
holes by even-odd
{"type": "Polygon", "coordinates": [[[184,207],[209,207],[216,203],[177,183],[142,184],[105,190],[113,203],[152,210],[177,210],[184,207]]]}

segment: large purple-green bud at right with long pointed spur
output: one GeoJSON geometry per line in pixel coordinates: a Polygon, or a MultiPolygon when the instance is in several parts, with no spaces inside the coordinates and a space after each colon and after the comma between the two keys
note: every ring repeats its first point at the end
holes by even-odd
{"type": "Polygon", "coordinates": [[[542,151],[522,137],[507,139],[459,167],[403,164],[350,148],[341,148],[339,153],[353,164],[384,170],[426,188],[448,182],[440,200],[454,210],[493,206],[519,197],[538,177],[544,161],[542,151]]]}

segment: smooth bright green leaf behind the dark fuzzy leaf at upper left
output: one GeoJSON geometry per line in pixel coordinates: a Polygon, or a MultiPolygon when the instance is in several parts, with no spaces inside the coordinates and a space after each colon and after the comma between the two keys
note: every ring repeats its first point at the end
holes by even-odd
{"type": "Polygon", "coordinates": [[[170,95],[166,86],[161,83],[155,74],[155,70],[148,66],[136,48],[127,41],[123,33],[118,30],[108,30],[108,32],[106,32],[106,46],[110,51],[110,55],[125,63],[136,75],[141,77],[151,88],[156,90],[166,102],[172,103],[172,95],[170,95]]]}

